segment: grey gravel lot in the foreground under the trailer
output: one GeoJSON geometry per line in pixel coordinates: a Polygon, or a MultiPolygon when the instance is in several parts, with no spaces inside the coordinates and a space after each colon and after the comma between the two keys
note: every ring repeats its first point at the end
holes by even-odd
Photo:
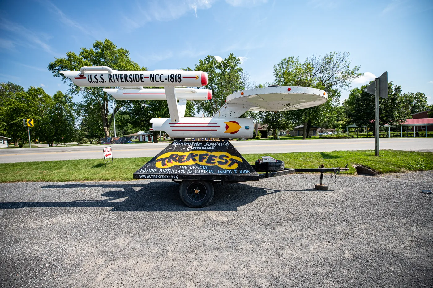
{"type": "Polygon", "coordinates": [[[433,172],[0,184],[1,287],[432,287],[433,172]]]}

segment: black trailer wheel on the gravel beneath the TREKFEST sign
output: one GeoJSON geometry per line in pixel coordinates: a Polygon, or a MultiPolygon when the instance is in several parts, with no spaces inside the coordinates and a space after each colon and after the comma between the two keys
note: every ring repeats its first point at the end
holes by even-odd
{"type": "Polygon", "coordinates": [[[183,180],[179,194],[185,205],[192,208],[204,207],[213,198],[212,181],[183,180]]]}

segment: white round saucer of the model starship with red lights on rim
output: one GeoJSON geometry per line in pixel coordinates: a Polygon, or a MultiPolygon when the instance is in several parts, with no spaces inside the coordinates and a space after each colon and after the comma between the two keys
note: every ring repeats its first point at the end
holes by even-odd
{"type": "Polygon", "coordinates": [[[265,87],[230,94],[226,103],[231,107],[250,107],[250,111],[286,111],[323,104],[328,94],[310,87],[265,87]],[[290,91],[289,91],[290,90],[290,91]]]}

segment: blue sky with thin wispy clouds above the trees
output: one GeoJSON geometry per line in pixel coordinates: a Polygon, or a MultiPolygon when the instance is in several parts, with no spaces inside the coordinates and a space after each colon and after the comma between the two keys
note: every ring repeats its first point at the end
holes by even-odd
{"type": "Polygon", "coordinates": [[[352,86],[387,70],[433,104],[432,15],[432,1],[1,1],[0,81],[65,92],[48,64],[109,38],[150,70],[233,52],[256,83],[282,58],[349,51],[365,73],[352,86]]]}

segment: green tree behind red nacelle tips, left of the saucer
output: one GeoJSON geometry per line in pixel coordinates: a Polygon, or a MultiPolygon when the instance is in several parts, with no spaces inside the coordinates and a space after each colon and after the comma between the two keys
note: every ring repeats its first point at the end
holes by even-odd
{"type": "MultiPolygon", "coordinates": [[[[207,72],[208,83],[204,88],[213,92],[209,101],[197,101],[197,110],[205,116],[214,115],[226,102],[226,97],[239,90],[246,89],[249,77],[242,67],[239,67],[239,58],[230,53],[221,62],[215,57],[207,55],[194,66],[195,70],[207,72]]],[[[191,70],[191,69],[189,69],[191,70]]]]}

